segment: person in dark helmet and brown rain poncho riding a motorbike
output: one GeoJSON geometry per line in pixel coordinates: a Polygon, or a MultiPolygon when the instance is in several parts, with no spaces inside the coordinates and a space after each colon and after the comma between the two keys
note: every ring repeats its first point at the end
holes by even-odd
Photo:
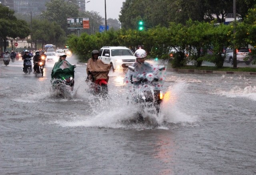
{"type": "Polygon", "coordinates": [[[97,84],[98,81],[104,80],[108,82],[109,76],[108,73],[111,68],[111,64],[105,64],[101,59],[98,59],[99,51],[93,50],[92,57],[87,62],[87,79],[97,84]]]}

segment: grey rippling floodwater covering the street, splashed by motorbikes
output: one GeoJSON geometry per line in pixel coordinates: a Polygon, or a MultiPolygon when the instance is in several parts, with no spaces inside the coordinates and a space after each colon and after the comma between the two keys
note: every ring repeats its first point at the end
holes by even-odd
{"type": "Polygon", "coordinates": [[[256,174],[256,76],[168,72],[152,124],[129,122],[138,108],[124,73],[110,73],[102,97],[77,64],[74,91],[60,98],[53,65],[35,77],[0,59],[0,174],[256,174]]]}

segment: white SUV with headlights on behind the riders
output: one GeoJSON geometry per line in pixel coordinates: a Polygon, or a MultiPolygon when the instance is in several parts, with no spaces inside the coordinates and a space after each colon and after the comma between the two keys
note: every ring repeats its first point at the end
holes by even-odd
{"type": "Polygon", "coordinates": [[[104,63],[112,64],[112,71],[118,69],[128,69],[132,65],[136,57],[132,51],[124,46],[104,46],[99,51],[99,59],[104,63]]]}

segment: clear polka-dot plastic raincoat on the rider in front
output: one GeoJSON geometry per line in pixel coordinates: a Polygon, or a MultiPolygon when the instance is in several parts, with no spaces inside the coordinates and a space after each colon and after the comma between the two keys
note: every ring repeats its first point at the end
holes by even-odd
{"type": "Polygon", "coordinates": [[[166,69],[159,71],[160,65],[152,65],[146,61],[144,61],[144,63],[142,64],[135,62],[132,66],[135,68],[135,70],[128,70],[124,77],[124,83],[128,83],[129,88],[133,88],[134,86],[140,86],[140,81],[138,81],[138,79],[142,74],[153,73],[154,75],[159,77],[159,80],[154,81],[152,85],[156,88],[156,90],[161,90],[166,77],[166,69]],[[131,76],[132,81],[134,81],[134,84],[130,82],[131,76]]]}

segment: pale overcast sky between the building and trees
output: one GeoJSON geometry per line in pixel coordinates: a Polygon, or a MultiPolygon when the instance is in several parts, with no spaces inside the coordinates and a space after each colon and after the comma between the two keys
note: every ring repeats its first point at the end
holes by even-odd
{"type": "MultiPolygon", "coordinates": [[[[81,0],[81,3],[87,1],[88,0],[81,0]]],[[[125,2],[125,0],[106,0],[107,19],[113,18],[118,20],[123,2],[125,2]]],[[[99,15],[105,18],[105,0],[90,0],[90,2],[85,4],[85,7],[86,11],[100,12],[99,15]]]]}

